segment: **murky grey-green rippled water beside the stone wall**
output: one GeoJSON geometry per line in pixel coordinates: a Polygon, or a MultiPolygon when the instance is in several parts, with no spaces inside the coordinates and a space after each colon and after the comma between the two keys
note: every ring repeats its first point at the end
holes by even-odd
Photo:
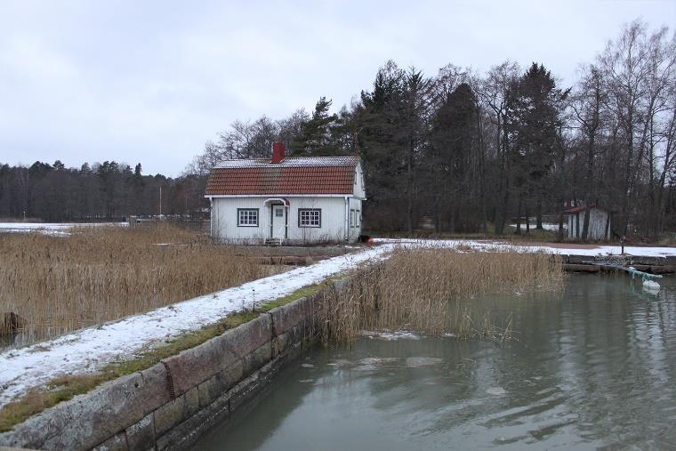
{"type": "MultiPolygon", "coordinates": [[[[318,347],[195,449],[676,447],[676,280],[474,300],[516,340],[318,347]]],[[[390,337],[391,338],[391,337],[390,337]]]]}

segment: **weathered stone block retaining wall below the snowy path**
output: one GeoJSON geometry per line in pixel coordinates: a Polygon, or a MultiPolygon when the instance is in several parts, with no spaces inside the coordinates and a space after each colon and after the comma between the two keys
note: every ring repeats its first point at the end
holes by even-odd
{"type": "Polygon", "coordinates": [[[180,449],[231,415],[315,337],[317,294],[32,416],[0,434],[30,449],[180,449]]]}

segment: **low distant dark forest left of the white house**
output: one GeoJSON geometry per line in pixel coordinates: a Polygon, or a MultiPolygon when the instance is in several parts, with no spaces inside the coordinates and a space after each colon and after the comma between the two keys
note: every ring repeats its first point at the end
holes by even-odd
{"type": "Polygon", "coordinates": [[[129,215],[199,216],[202,181],[143,175],[116,161],[67,168],[37,161],[29,167],[0,164],[0,218],[42,221],[119,221],[129,215]]]}

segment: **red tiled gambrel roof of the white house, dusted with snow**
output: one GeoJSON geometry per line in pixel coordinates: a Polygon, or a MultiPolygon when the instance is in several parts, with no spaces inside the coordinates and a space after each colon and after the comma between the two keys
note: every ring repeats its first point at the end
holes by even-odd
{"type": "Polygon", "coordinates": [[[226,160],[206,183],[206,196],[352,194],[358,157],[226,160]]]}

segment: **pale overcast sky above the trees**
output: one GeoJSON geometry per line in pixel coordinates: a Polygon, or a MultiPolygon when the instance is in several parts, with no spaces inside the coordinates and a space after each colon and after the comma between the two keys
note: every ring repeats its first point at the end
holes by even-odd
{"type": "Polygon", "coordinates": [[[543,62],[575,81],[621,26],[676,0],[0,0],[0,163],[115,159],[175,176],[237,118],[334,107],[385,60],[434,75],[543,62]]]}

